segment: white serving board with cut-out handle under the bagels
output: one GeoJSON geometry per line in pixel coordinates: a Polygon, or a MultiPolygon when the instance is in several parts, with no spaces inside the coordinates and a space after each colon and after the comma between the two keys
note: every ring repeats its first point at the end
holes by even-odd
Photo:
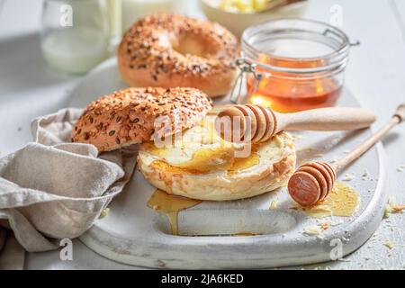
{"type": "MultiPolygon", "coordinates": [[[[111,58],[85,77],[72,94],[72,107],[84,107],[103,94],[125,87],[111,58]]],[[[221,100],[224,101],[223,99],[221,100]]],[[[358,106],[346,89],[339,106],[358,106]]],[[[310,159],[342,157],[368,137],[371,130],[309,132],[300,131],[297,140],[298,163],[310,159]],[[307,149],[310,148],[311,149],[307,149]]],[[[387,194],[383,148],[379,144],[343,171],[356,177],[348,182],[360,194],[360,205],[353,217],[316,220],[293,211],[286,188],[250,199],[232,202],[202,202],[181,211],[179,232],[173,236],[165,216],[147,207],[155,188],[137,171],[126,189],[114,199],[107,217],[98,220],[80,239],[87,247],[112,260],[136,266],[165,268],[263,268],[329,261],[332,249],[341,243],[343,255],[356,250],[380,224],[387,194]],[[367,173],[366,179],[362,175],[367,173]],[[277,200],[275,210],[270,203],[277,200]],[[336,223],[321,236],[309,236],[304,229],[320,221],[336,223]],[[240,231],[259,236],[210,236],[240,231]]],[[[332,254],[333,254],[332,251],[332,254]]],[[[336,254],[334,254],[336,255],[336,254]]]]}

